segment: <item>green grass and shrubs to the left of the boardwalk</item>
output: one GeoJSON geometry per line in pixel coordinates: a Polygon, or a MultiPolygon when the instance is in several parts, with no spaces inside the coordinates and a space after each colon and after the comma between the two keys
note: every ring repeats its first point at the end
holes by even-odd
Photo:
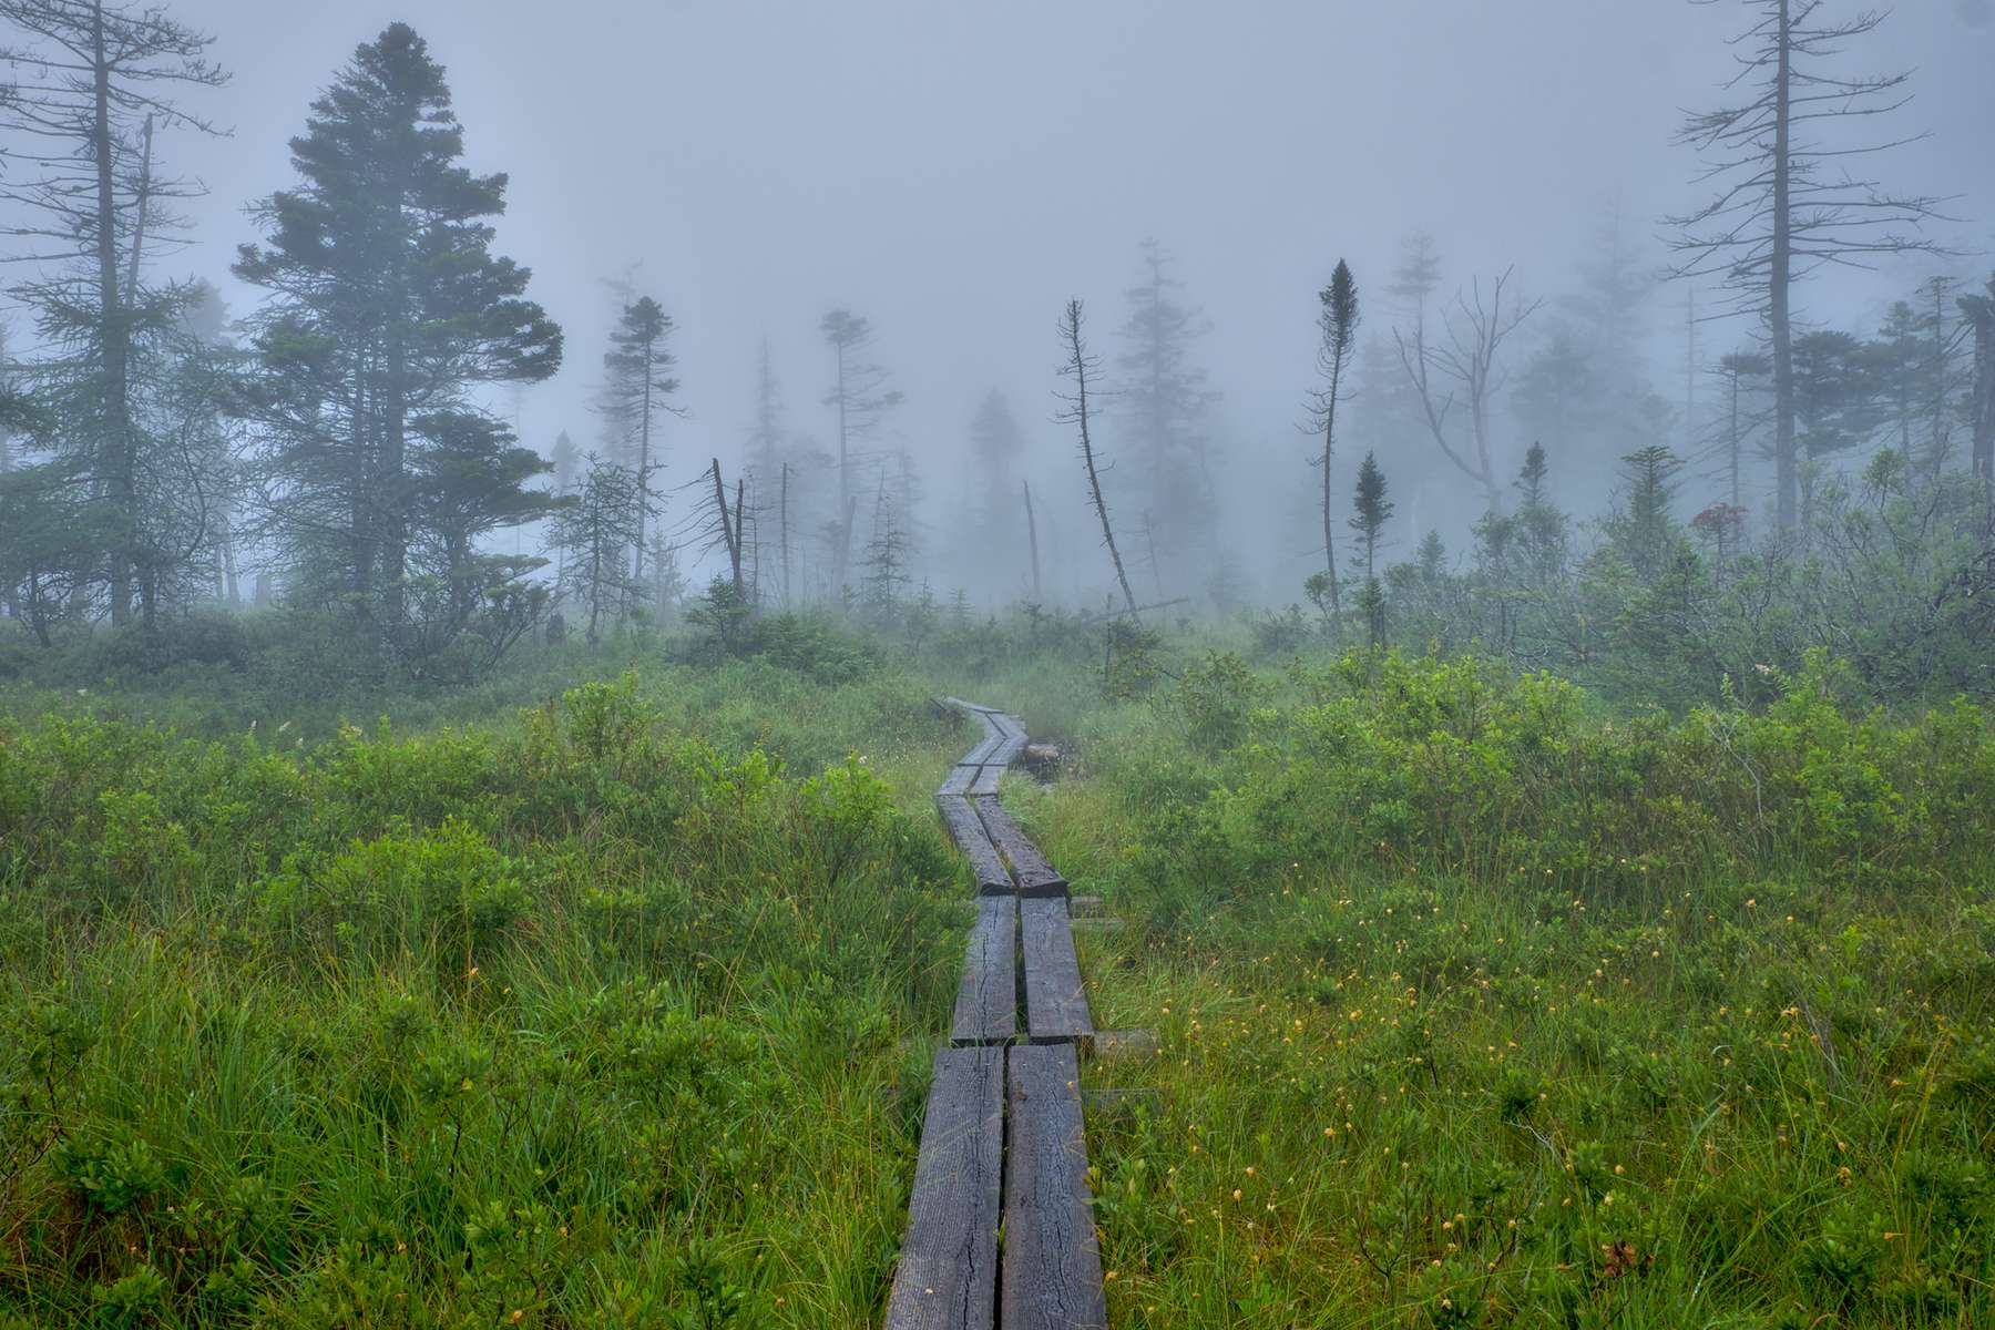
{"type": "Polygon", "coordinates": [[[872,1324],[968,909],[894,786],[962,742],[756,666],[0,722],[0,1324],[872,1324]]]}

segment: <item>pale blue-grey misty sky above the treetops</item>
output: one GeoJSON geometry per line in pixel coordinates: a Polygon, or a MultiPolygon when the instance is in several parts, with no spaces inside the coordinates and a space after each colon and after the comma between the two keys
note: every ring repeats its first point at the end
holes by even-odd
{"type": "MultiPolygon", "coordinates": [[[[1205,363],[1235,447],[1293,453],[1301,483],[1315,291],[1335,259],[1377,291],[1418,227],[1450,287],[1516,263],[1550,295],[1616,191],[1638,233],[1658,233],[1696,197],[1672,130],[1718,96],[1722,36],[1742,18],[1686,0],[172,8],[219,38],[233,84],[196,106],[235,132],[162,144],[211,189],[174,267],[225,277],[253,235],[241,205],[293,179],[285,140],[315,90],[407,20],[449,70],[471,164],[511,173],[499,249],[535,269],[569,333],[567,369],[521,405],[523,437],[543,451],[563,427],[593,437],[598,279],[640,263],[640,289],[680,327],[690,419],[670,427],[670,481],[738,449],[762,333],[790,425],[828,437],[816,323],[832,305],[872,317],[908,393],[892,429],[918,457],[954,459],[990,387],[1063,447],[1045,423],[1059,305],[1085,297],[1113,351],[1135,245],[1155,235],[1211,317],[1205,363]]],[[[1931,138],[1889,160],[1889,183],[1959,195],[1971,221],[1947,239],[1995,249],[1989,0],[1907,0],[1857,64],[1917,68],[1903,128],[1931,138]]],[[[1987,255],[1953,267],[1985,271],[1987,255]]],[[[1803,309],[1867,325],[1925,271],[1847,287],[1839,305],[1811,289],[1803,309]]],[[[239,313],[251,297],[223,285],[239,313]]],[[[1385,333],[1383,299],[1371,315],[1385,333]]]]}

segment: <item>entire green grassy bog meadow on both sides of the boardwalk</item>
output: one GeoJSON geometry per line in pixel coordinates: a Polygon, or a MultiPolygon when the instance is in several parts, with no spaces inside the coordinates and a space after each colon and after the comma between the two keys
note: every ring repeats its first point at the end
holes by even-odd
{"type": "Polygon", "coordinates": [[[541,654],[395,730],[30,698],[0,1326],[878,1324],[968,921],[944,692],[1067,748],[1005,800],[1159,1035],[1083,1071],[1115,1326],[1995,1324],[1989,716],[1219,636],[1105,702],[1035,632],[541,654]]]}

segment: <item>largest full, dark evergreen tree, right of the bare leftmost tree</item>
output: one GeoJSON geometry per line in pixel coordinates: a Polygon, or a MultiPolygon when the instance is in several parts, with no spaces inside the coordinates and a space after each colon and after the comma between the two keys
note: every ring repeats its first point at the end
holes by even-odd
{"type": "MultiPolygon", "coordinates": [[[[561,365],[561,329],[525,299],[527,269],[491,253],[507,177],[475,175],[461,156],[443,66],[393,24],[313,102],[291,140],[299,185],[255,207],[265,243],[243,245],[235,263],[237,277],[271,293],[255,317],[261,375],[249,399],[265,435],[271,526],[303,586],[341,596],[415,668],[411,652],[465,626],[413,622],[427,610],[457,614],[459,600],[411,604],[413,578],[457,584],[467,570],[451,560],[475,558],[417,530],[439,506],[433,489],[469,465],[463,451],[485,455],[463,500],[485,504],[497,524],[541,510],[519,485],[537,471],[533,455],[507,457],[511,431],[471,391],[535,383],[561,365]],[[453,465],[425,467],[439,449],[453,465]],[[411,566],[431,550],[445,566],[411,566]]],[[[479,580],[503,586],[523,572],[519,560],[487,562],[479,580]]]]}

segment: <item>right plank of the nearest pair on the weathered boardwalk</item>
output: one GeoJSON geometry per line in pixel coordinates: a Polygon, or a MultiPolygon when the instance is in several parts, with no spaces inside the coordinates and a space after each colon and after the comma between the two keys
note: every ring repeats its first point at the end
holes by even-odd
{"type": "MultiPolygon", "coordinates": [[[[1063,901],[1061,901],[1063,905],[1063,901]]],[[[1087,1206],[1087,1139],[1071,1045],[1015,1045],[1007,1059],[999,1330],[1109,1324],[1087,1206]]]]}

